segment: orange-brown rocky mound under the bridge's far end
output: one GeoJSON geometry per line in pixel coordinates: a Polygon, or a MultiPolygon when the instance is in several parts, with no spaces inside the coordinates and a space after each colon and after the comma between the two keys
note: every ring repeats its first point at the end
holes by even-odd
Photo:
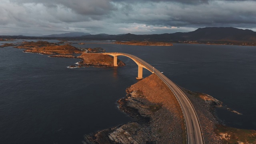
{"type": "MultiPolygon", "coordinates": [[[[109,55],[103,55],[101,53],[82,53],[77,58],[82,59],[79,62],[82,66],[98,66],[98,67],[114,67],[114,58],[109,55]]],[[[117,60],[118,66],[125,66],[124,62],[117,60]]]]}

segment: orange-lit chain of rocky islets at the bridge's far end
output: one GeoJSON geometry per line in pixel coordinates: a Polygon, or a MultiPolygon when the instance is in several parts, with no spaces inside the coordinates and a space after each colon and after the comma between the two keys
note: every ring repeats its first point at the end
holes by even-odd
{"type": "MultiPolygon", "coordinates": [[[[63,44],[63,43],[62,43],[63,44]]],[[[68,66],[68,68],[82,68],[88,66],[95,67],[114,67],[114,58],[109,55],[103,55],[101,52],[106,52],[103,48],[76,48],[69,44],[60,45],[46,41],[38,42],[22,42],[15,48],[26,49],[24,52],[49,54],[49,57],[55,58],[79,58],[82,61],[78,62],[78,66],[68,66]],[[74,56],[73,54],[81,54],[74,56]]],[[[124,62],[118,59],[118,66],[124,66],[124,62]]]]}

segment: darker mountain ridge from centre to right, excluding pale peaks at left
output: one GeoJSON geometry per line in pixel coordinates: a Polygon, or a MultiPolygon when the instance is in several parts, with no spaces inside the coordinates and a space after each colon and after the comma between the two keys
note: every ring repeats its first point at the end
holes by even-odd
{"type": "Polygon", "coordinates": [[[198,28],[193,32],[176,32],[172,34],[96,34],[81,36],[78,39],[86,40],[149,40],[149,41],[177,41],[177,40],[196,40],[196,41],[256,41],[256,32],[252,30],[242,30],[232,27],[210,27],[198,28]]]}

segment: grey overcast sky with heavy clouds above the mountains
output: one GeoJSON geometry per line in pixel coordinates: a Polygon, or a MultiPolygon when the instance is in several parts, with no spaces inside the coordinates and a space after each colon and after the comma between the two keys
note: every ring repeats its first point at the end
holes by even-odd
{"type": "Polygon", "coordinates": [[[256,31],[256,1],[0,1],[0,35],[162,34],[214,26],[256,31]]]}

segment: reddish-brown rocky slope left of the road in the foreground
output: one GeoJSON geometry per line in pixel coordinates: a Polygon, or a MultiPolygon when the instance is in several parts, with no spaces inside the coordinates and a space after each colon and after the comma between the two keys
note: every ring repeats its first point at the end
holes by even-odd
{"type": "Polygon", "coordinates": [[[181,108],[169,88],[152,74],[126,90],[119,108],[136,120],[87,136],[88,144],[182,144],[186,142],[181,108]]]}

